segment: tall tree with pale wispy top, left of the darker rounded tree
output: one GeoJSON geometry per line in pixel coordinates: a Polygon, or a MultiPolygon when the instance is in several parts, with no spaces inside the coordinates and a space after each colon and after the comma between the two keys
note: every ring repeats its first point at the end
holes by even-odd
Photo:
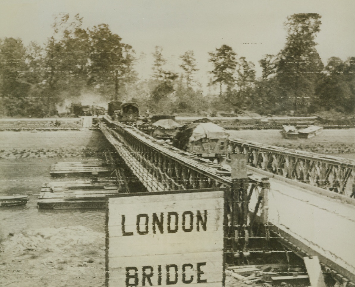
{"type": "Polygon", "coordinates": [[[87,82],[88,34],[82,28],[82,18],[69,14],[55,17],[53,35],[45,47],[45,87],[43,93],[52,102],[61,94],[78,96],[87,82]]]}

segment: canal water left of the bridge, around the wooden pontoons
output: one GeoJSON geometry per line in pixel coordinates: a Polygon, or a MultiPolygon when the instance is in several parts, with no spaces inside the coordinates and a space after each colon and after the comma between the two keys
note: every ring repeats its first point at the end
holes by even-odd
{"type": "MultiPolygon", "coordinates": [[[[82,161],[83,158],[60,161],[82,161]]],[[[87,158],[86,158],[87,160],[87,158]]],[[[25,206],[0,209],[0,237],[28,229],[85,226],[104,232],[104,210],[38,210],[37,197],[44,182],[50,181],[49,168],[58,158],[0,160],[0,194],[26,194],[25,206]]]]}

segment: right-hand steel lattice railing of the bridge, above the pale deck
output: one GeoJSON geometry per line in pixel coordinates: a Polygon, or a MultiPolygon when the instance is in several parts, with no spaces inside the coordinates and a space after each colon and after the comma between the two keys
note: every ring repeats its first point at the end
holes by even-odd
{"type": "Polygon", "coordinates": [[[229,152],[247,155],[252,167],[355,197],[355,160],[236,138],[230,138],[229,152]]]}

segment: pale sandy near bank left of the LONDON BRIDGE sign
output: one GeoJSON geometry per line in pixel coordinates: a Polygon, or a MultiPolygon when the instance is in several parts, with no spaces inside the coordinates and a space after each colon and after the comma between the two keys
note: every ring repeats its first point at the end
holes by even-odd
{"type": "Polygon", "coordinates": [[[105,238],[87,227],[10,233],[0,247],[1,286],[104,286],[105,238]]]}

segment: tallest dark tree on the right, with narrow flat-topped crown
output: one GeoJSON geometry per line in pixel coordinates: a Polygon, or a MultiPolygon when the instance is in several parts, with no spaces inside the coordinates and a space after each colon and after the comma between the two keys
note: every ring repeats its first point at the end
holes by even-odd
{"type": "Polygon", "coordinates": [[[300,101],[299,98],[313,98],[315,83],[323,69],[315,48],[320,18],[317,13],[301,13],[289,16],[284,23],[288,36],[275,64],[284,96],[294,99],[295,111],[305,107],[306,101],[300,101]]]}

